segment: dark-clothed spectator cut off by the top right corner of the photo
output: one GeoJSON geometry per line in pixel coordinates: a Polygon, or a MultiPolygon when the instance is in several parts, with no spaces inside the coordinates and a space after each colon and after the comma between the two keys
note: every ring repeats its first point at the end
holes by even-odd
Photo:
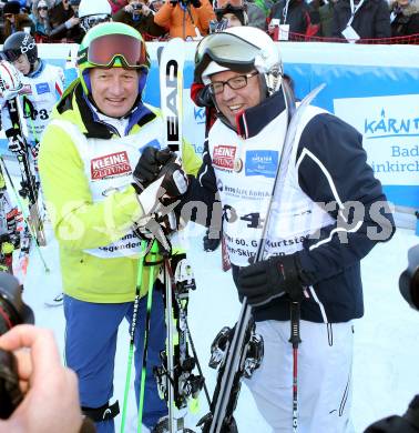
{"type": "Polygon", "coordinates": [[[419,34],[419,1],[396,0],[391,8],[391,36],[419,34]]]}

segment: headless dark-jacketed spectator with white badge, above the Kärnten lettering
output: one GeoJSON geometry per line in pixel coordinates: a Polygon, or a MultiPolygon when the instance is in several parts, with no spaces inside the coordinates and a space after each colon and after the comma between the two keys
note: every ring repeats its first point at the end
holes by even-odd
{"type": "Polygon", "coordinates": [[[334,8],[334,19],[331,23],[331,36],[347,39],[355,42],[358,39],[390,38],[390,10],[386,0],[339,0],[334,8]],[[354,6],[354,13],[351,10],[354,6]],[[348,27],[355,33],[343,32],[348,27]]]}

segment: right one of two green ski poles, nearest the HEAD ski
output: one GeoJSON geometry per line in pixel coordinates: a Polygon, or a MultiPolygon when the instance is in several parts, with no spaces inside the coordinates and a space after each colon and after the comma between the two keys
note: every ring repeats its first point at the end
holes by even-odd
{"type": "MultiPolygon", "coordinates": [[[[156,268],[156,255],[159,253],[157,241],[153,241],[152,249],[150,251],[151,262],[146,263],[150,265],[149,274],[149,292],[147,292],[147,305],[145,314],[145,326],[144,326],[144,343],[143,343],[143,366],[141,369],[141,383],[140,383],[140,400],[139,400],[139,423],[137,432],[141,433],[143,426],[143,409],[144,409],[144,394],[145,394],[145,375],[147,367],[147,352],[149,352],[149,334],[150,334],[150,322],[151,322],[151,309],[153,304],[153,286],[154,286],[154,271],[156,268]]],[[[145,260],[145,259],[144,259],[145,260]]]]}

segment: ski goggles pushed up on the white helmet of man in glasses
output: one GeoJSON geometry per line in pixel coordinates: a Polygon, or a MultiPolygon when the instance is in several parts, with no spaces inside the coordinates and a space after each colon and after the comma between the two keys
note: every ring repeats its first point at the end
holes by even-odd
{"type": "Polygon", "coordinates": [[[195,51],[195,78],[202,79],[207,66],[214,61],[237,72],[254,69],[260,49],[236,34],[219,32],[205,37],[195,51]]]}

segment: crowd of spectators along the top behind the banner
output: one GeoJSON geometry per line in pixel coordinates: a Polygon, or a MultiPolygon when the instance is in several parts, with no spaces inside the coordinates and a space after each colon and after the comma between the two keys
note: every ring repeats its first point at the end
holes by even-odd
{"type": "Polygon", "coordinates": [[[89,19],[124,22],[149,41],[198,40],[235,24],[276,40],[419,40],[419,0],[3,0],[0,12],[0,43],[17,31],[37,42],[79,43],[89,19]]]}

